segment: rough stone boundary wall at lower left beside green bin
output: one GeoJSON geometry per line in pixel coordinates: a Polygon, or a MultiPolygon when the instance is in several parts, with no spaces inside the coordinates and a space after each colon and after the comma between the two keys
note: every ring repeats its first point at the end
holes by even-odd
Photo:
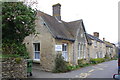
{"type": "Polygon", "coordinates": [[[27,61],[23,58],[2,59],[2,78],[27,78],[27,61]]]}

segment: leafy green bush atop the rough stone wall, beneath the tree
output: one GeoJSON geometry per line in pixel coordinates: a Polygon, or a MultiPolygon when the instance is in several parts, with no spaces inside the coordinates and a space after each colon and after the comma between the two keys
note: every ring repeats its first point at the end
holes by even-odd
{"type": "Polygon", "coordinates": [[[29,58],[29,53],[24,44],[21,43],[3,43],[3,57],[23,57],[29,58]]]}

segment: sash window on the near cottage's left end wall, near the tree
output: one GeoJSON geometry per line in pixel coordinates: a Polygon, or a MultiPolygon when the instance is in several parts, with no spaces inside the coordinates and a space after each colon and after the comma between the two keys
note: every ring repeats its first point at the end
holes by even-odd
{"type": "Polygon", "coordinates": [[[40,43],[33,43],[34,45],[34,59],[40,60],[40,43]]]}

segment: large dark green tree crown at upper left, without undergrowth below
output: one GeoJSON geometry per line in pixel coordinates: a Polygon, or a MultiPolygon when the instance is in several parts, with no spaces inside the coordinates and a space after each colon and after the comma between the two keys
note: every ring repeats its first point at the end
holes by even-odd
{"type": "Polygon", "coordinates": [[[4,41],[23,42],[34,32],[35,11],[22,2],[4,2],[2,4],[2,39],[4,41]]]}

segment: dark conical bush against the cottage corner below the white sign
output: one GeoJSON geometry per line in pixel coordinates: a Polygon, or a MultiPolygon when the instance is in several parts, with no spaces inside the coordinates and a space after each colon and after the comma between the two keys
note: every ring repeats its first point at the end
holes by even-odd
{"type": "Polygon", "coordinates": [[[62,54],[57,54],[55,59],[55,68],[53,69],[53,72],[67,72],[69,69],[70,67],[67,66],[67,63],[66,61],[64,61],[62,54]]]}

